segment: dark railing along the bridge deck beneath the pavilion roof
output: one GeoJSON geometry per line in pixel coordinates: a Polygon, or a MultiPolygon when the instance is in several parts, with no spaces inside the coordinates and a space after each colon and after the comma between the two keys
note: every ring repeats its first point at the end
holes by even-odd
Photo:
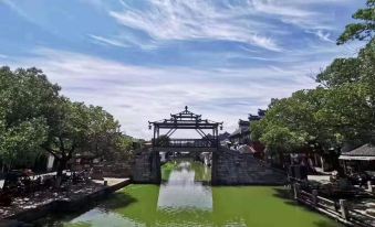
{"type": "Polygon", "coordinates": [[[210,139],[169,139],[168,142],[157,143],[160,148],[217,148],[218,141],[210,139]]]}

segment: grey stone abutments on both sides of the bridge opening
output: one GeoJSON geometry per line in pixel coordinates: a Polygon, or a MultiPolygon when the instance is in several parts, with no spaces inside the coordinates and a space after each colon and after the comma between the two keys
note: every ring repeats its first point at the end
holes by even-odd
{"type": "MultiPolygon", "coordinates": [[[[212,185],[283,185],[287,175],[254,159],[251,153],[239,153],[227,148],[212,152],[212,185]]],[[[159,184],[162,182],[159,152],[144,149],[133,164],[133,182],[159,184]]]]}

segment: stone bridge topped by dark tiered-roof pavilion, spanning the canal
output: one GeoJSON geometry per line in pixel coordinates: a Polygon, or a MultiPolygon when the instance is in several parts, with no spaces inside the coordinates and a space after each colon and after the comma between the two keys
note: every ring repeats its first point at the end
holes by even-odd
{"type": "Polygon", "coordinates": [[[287,182],[284,173],[254,159],[251,153],[240,153],[220,147],[219,129],[222,122],[201,119],[185,107],[185,110],[170,115],[169,119],[148,122],[154,129],[153,147],[137,152],[133,164],[132,180],[134,183],[159,184],[160,151],[166,152],[211,152],[212,185],[282,185],[287,182]],[[165,133],[160,133],[165,130],[165,133]],[[177,130],[195,130],[199,139],[173,139],[177,130]],[[211,133],[207,133],[210,131],[211,133]]]}

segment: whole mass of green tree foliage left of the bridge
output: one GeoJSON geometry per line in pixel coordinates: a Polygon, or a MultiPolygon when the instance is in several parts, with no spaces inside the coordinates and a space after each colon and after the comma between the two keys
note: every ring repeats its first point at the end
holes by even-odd
{"type": "Polygon", "coordinates": [[[75,153],[102,156],[131,150],[133,142],[102,107],[61,96],[37,68],[0,68],[0,161],[8,167],[32,166],[42,152],[58,160],[62,173],[75,153]]]}

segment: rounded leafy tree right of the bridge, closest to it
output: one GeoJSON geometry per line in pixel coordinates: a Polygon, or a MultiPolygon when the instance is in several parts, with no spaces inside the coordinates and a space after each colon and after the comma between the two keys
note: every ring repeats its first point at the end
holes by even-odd
{"type": "Polygon", "coordinates": [[[340,118],[327,109],[332,94],[316,88],[299,90],[289,98],[273,99],[265,117],[252,126],[251,137],[262,142],[269,152],[336,155],[343,137],[336,130],[340,118]]]}

